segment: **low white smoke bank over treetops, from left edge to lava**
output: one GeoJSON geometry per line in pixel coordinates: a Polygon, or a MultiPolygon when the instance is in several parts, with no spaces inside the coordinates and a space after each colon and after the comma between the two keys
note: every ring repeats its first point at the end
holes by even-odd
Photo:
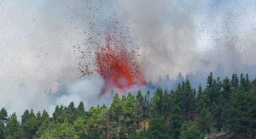
{"type": "Polygon", "coordinates": [[[68,106],[71,102],[76,107],[80,102],[84,102],[85,109],[96,104],[108,105],[111,96],[102,96],[103,83],[102,77],[94,74],[79,81],[61,79],[56,83],[58,88],[55,91],[40,91],[26,84],[9,86],[6,91],[0,92],[0,105],[7,108],[9,114],[16,112],[18,115],[31,108],[34,111],[46,109],[49,114],[53,114],[56,105],[68,106]]]}

